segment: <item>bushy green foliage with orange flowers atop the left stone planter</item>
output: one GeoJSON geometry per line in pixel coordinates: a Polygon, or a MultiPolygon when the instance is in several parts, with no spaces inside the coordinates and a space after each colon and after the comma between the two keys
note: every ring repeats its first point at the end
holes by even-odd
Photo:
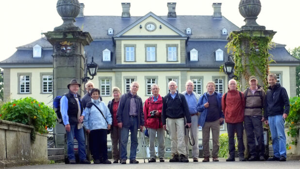
{"type": "Polygon", "coordinates": [[[52,108],[31,97],[6,102],[1,107],[0,119],[32,125],[31,138],[35,132],[47,133],[47,128],[56,124],[56,114],[52,108]]]}

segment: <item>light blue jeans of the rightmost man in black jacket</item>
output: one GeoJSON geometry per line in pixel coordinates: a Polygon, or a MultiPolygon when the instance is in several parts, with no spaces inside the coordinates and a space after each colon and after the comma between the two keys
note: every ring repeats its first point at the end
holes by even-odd
{"type": "Polygon", "coordinates": [[[281,156],[286,158],[286,139],[284,133],[283,115],[275,115],[268,117],[268,123],[270,126],[272,136],[272,146],[274,156],[280,158],[281,156]]]}

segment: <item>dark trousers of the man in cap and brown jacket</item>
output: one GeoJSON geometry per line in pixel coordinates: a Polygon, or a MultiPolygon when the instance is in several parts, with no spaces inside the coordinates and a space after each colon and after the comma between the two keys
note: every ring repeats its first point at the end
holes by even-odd
{"type": "Polygon", "coordinates": [[[249,153],[251,156],[264,156],[265,154],[264,129],[261,119],[262,116],[244,117],[247,142],[249,146],[249,153]],[[255,145],[255,137],[258,143],[257,147],[255,145]]]}

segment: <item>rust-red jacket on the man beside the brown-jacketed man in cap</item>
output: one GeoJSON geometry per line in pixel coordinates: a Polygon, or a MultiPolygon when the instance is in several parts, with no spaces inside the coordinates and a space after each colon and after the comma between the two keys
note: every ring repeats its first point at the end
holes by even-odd
{"type": "Polygon", "coordinates": [[[245,97],[241,92],[242,97],[237,90],[229,90],[222,97],[222,110],[225,116],[226,123],[239,123],[244,121],[245,97]]]}

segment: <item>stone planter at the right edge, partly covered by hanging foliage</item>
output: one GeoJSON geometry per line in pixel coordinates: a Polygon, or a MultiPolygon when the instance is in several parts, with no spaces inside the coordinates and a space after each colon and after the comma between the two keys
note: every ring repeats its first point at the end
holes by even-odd
{"type": "MultiPolygon", "coordinates": [[[[296,124],[296,127],[298,128],[298,130],[300,130],[300,124],[296,124]]],[[[288,127],[284,127],[285,133],[287,133],[288,130],[289,130],[288,127]]],[[[300,135],[298,135],[298,138],[295,138],[295,137],[287,136],[287,134],[286,134],[286,143],[287,144],[294,139],[297,139],[298,143],[297,143],[297,145],[290,144],[291,149],[286,150],[286,156],[288,159],[299,160],[300,159],[300,135]]]]}

